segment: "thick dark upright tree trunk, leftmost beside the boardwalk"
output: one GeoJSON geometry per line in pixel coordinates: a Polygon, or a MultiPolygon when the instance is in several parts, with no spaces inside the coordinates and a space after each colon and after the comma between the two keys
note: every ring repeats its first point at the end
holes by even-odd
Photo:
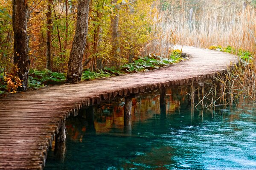
{"type": "Polygon", "coordinates": [[[14,32],[14,64],[18,66],[17,73],[22,80],[21,90],[27,89],[29,73],[29,44],[27,37],[27,0],[12,1],[12,27],[14,32]]]}

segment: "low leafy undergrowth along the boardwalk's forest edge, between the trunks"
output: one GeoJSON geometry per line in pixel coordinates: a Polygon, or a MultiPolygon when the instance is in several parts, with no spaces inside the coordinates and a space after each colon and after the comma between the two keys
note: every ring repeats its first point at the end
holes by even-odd
{"type": "MultiPolygon", "coordinates": [[[[157,69],[169,64],[180,62],[185,58],[181,57],[181,51],[175,50],[169,58],[163,58],[154,54],[147,57],[137,57],[133,62],[117,67],[105,67],[96,71],[85,70],[82,73],[81,80],[93,80],[101,77],[118,76],[120,74],[146,72],[157,69]]],[[[38,71],[36,69],[29,70],[28,88],[43,88],[46,85],[64,84],[66,82],[66,74],[52,72],[47,69],[38,71]]],[[[21,81],[15,74],[9,74],[0,71],[0,96],[9,93],[16,93],[20,87],[21,81]]]]}

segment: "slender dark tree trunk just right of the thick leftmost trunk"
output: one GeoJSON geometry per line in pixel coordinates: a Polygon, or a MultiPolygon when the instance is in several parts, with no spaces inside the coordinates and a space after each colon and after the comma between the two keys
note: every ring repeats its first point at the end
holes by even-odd
{"type": "Polygon", "coordinates": [[[52,0],[47,0],[46,68],[52,71],[52,0]]]}

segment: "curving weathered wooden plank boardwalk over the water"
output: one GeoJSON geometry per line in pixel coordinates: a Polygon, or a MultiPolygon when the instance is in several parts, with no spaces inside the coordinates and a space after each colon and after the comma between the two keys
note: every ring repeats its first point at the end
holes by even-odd
{"type": "Polygon", "coordinates": [[[238,62],[238,57],[219,51],[183,46],[183,52],[189,54],[189,60],[157,70],[0,98],[0,169],[42,169],[61,121],[83,106],[163,86],[200,82],[238,62]]]}

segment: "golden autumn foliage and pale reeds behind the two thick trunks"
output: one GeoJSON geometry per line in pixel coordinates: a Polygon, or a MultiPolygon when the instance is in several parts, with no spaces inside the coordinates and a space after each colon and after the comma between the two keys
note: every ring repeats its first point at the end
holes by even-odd
{"type": "MultiPolygon", "coordinates": [[[[65,74],[76,29],[77,0],[49,2],[28,0],[30,68],[46,68],[50,5],[51,68],[65,74]]],[[[255,0],[90,0],[83,68],[119,67],[151,53],[168,57],[175,43],[204,48],[232,45],[255,52],[255,4],[255,0]]],[[[2,82],[13,70],[13,38],[12,1],[0,0],[2,82]]]]}

